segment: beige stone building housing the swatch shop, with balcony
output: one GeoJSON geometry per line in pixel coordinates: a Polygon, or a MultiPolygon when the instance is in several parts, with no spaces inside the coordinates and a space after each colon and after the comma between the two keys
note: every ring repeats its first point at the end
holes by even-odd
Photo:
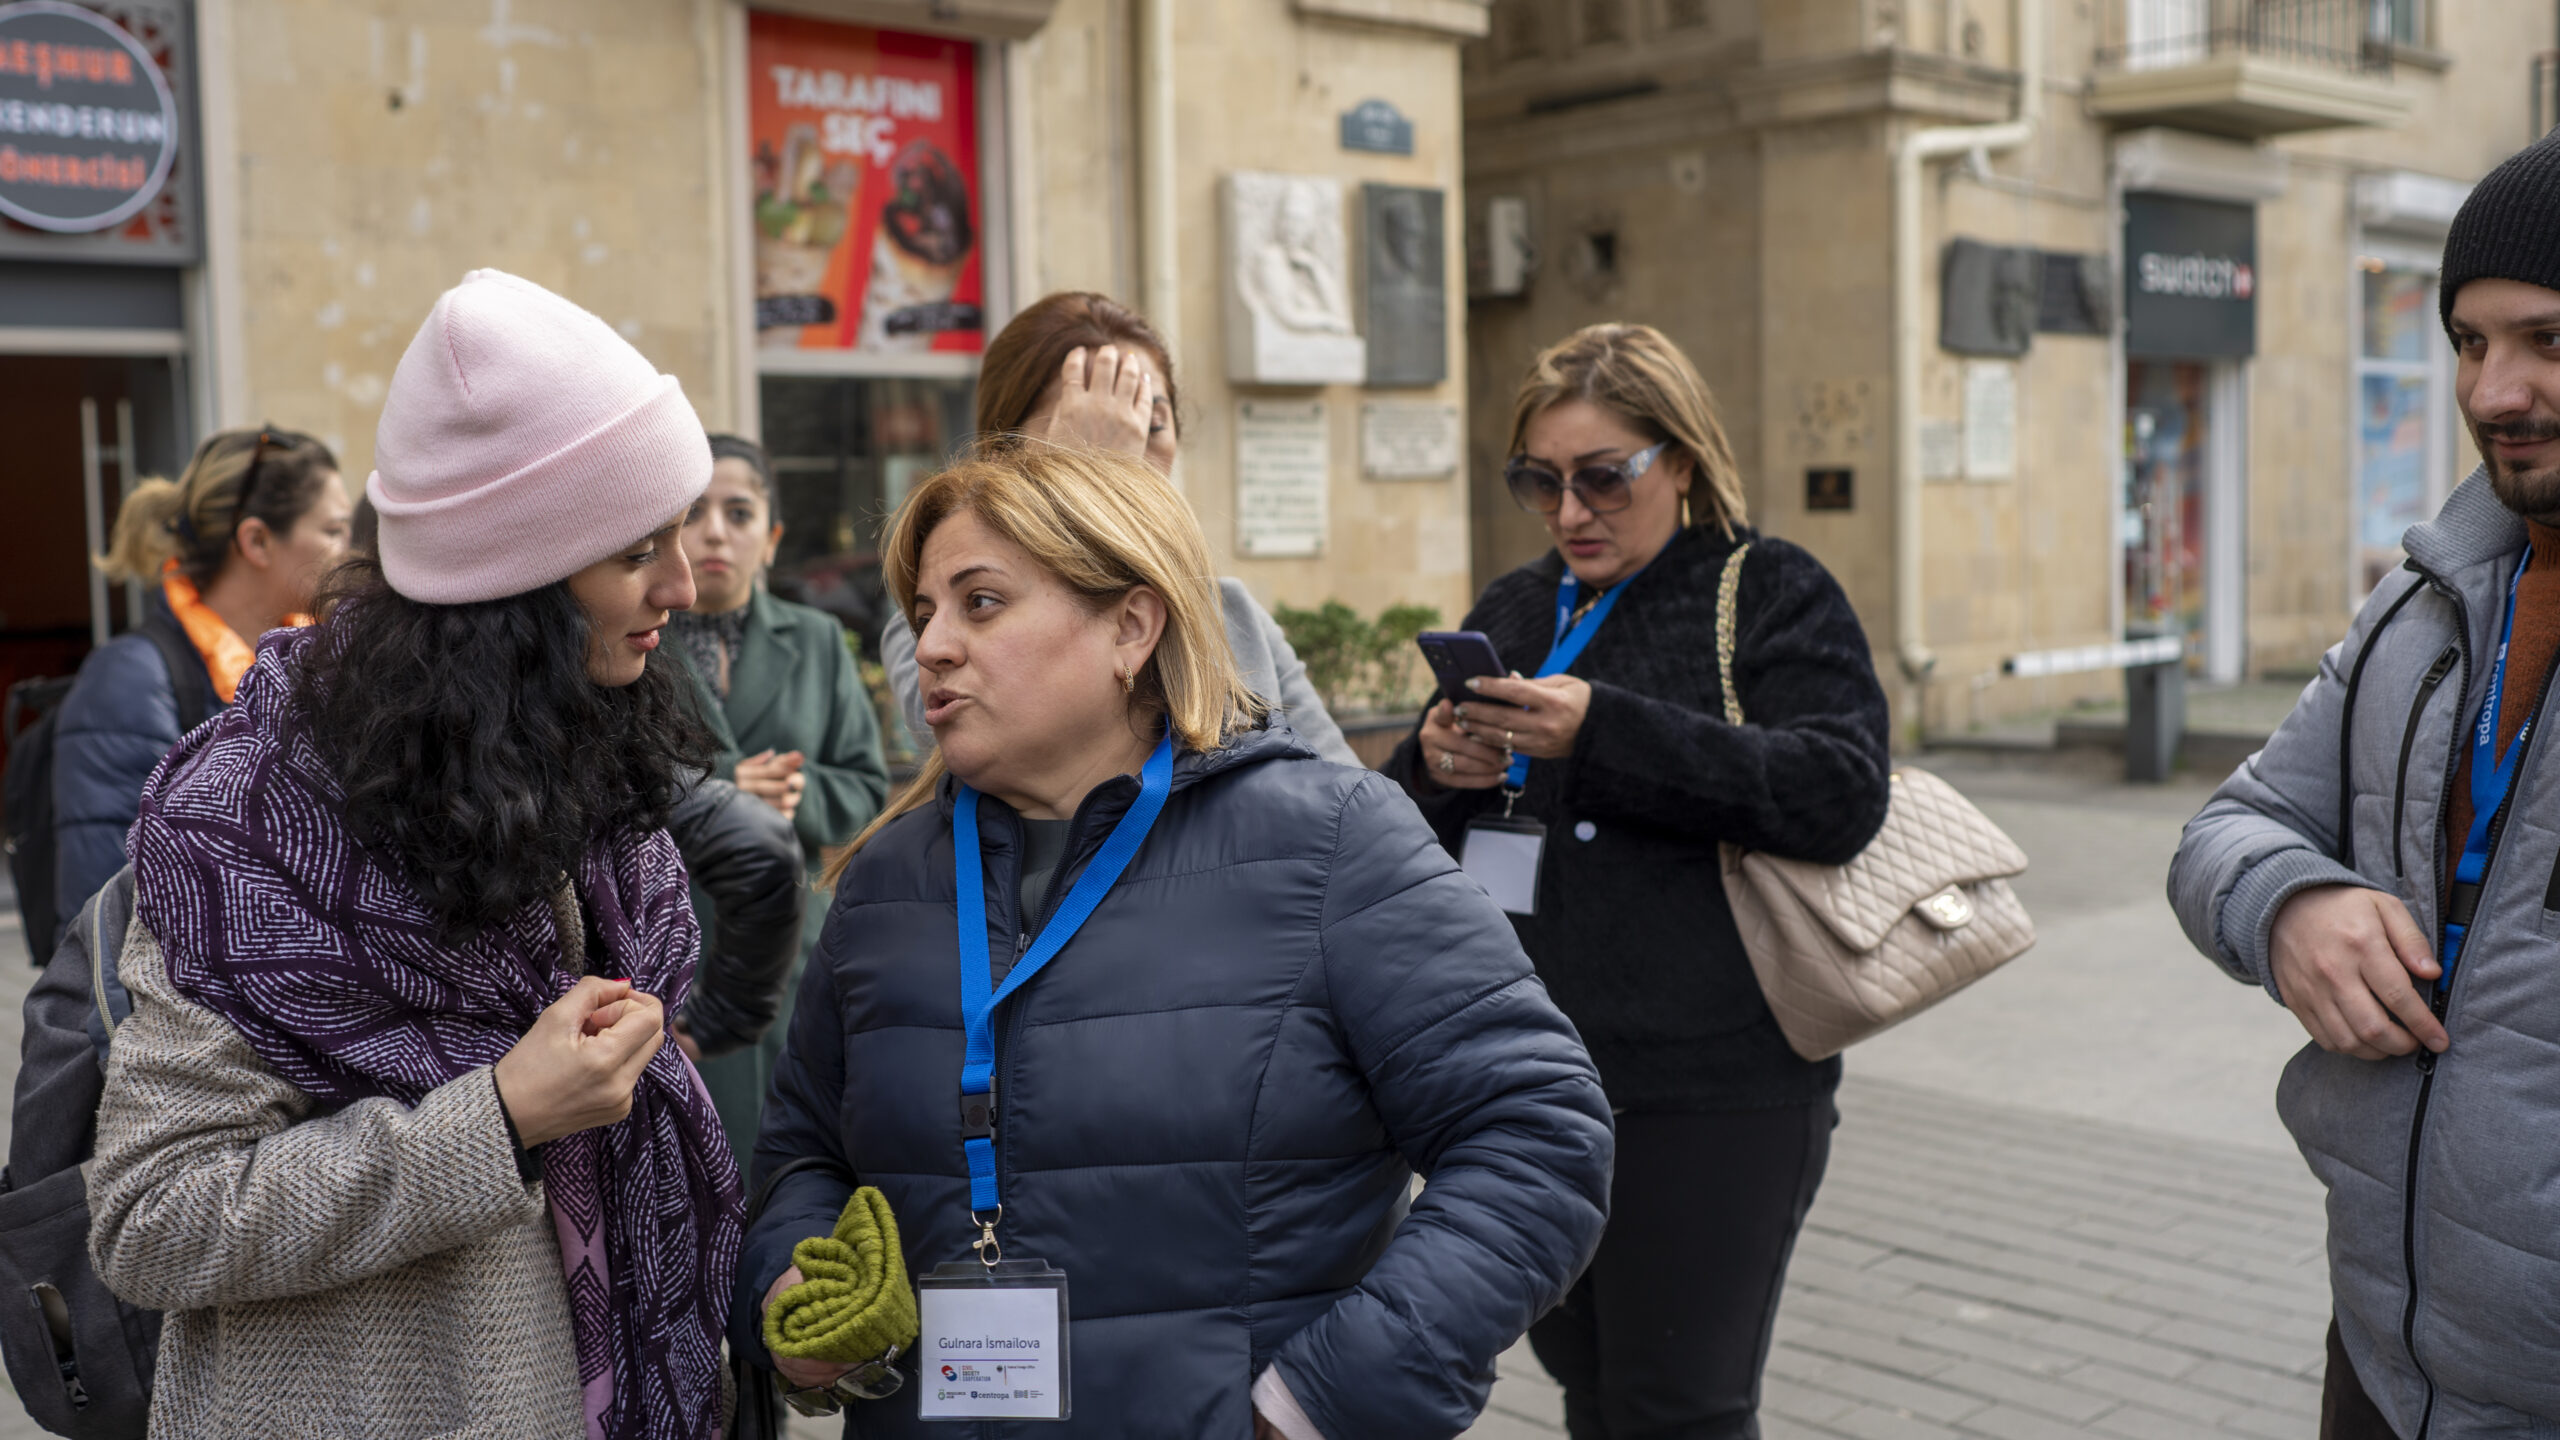
{"type": "Polygon", "coordinates": [[[1905,740],[2112,694],[2127,638],[2301,671],[2473,464],[2432,269],[2552,123],[2552,44],[2445,0],[1498,0],[1477,579],[1544,543],[1498,482],[1513,377],[1651,320],[1905,740]]]}

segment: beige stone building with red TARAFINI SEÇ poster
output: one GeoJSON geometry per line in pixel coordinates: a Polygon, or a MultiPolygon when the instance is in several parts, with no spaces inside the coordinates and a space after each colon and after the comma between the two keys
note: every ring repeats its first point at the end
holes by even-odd
{"type": "Polygon", "coordinates": [[[123,228],[0,220],[0,415],[38,438],[0,466],[44,512],[13,525],[0,682],[131,620],[133,597],[84,579],[92,528],[207,430],[312,430],[361,482],[402,348],[474,266],[561,290],[707,425],[763,436],[783,571],[817,600],[965,443],[975,351],[1050,290],[1103,290],[1170,336],[1178,484],[1226,574],[1265,602],[1469,600],[1459,46],[1487,0],[87,8],[143,36],[184,146],[123,228]],[[1239,172],[1334,195],[1329,246],[1290,256],[1347,297],[1352,369],[1229,364],[1239,172]],[[1418,218],[1395,254],[1408,300],[1434,300],[1434,272],[1452,287],[1436,313],[1370,313],[1370,184],[1418,218]],[[1380,369],[1370,341],[1416,325],[1439,369],[1380,369]],[[1390,451],[1395,479],[1370,479],[1390,451]]]}

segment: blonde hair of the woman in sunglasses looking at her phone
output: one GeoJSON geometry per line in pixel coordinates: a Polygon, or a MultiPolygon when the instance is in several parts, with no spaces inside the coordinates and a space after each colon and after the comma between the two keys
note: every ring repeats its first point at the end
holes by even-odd
{"type": "Polygon", "coordinates": [[[1521,454],[1528,423],[1549,405],[1590,400],[1656,441],[1690,456],[1692,518],[1725,536],[1746,525],[1743,474],[1733,443],[1715,420],[1708,382],[1661,331],[1651,325],[1585,325],[1546,346],[1521,379],[1510,405],[1510,451],[1521,454]],[[1705,505],[1697,505],[1705,500],[1705,505]]]}

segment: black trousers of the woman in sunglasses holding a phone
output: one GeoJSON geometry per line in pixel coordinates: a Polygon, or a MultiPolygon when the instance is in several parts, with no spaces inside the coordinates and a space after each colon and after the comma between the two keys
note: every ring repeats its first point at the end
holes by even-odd
{"type": "Polygon", "coordinates": [[[1833,1125],[1828,1097],[1618,1117],[1600,1253],[1528,1330],[1572,1440],[1759,1440],[1769,1327],[1833,1125]]]}

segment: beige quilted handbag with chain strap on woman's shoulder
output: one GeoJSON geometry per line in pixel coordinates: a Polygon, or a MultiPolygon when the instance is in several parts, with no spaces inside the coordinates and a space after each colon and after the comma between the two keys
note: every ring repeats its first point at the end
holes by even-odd
{"type": "MultiPolygon", "coordinates": [[[[1715,676],[1725,720],[1743,723],[1733,689],[1736,546],[1715,594],[1715,676]]],[[[1782,861],[1723,846],[1725,899],[1751,974],[1787,1045],[1807,1061],[1920,1015],[2035,943],[2010,876],[2028,853],[1956,787],[1894,771],[1884,830],[1846,866],[1782,861]]]]}

